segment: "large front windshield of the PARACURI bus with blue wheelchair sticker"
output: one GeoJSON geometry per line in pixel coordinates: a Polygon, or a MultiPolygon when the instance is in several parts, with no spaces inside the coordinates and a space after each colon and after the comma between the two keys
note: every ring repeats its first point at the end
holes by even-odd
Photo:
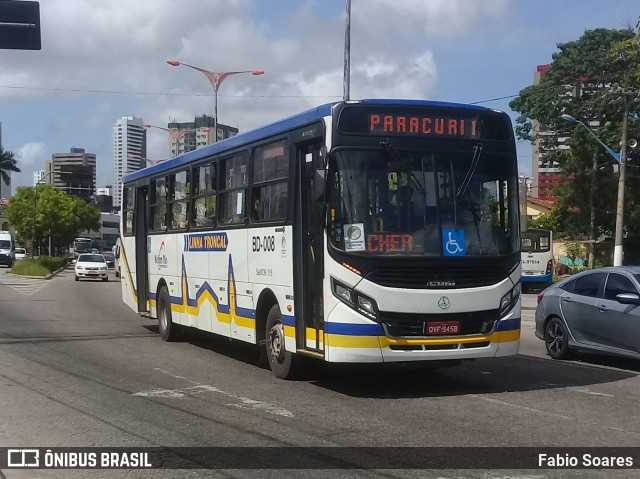
{"type": "Polygon", "coordinates": [[[510,157],[424,149],[338,149],[330,160],[330,240],[375,255],[497,256],[518,251],[510,157]]]}

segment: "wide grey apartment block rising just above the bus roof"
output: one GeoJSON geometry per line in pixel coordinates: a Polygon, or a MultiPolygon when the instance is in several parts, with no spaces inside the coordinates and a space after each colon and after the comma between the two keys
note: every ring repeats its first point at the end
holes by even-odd
{"type": "MultiPolygon", "coordinates": [[[[169,145],[171,157],[214,143],[214,123],[214,118],[207,115],[197,116],[192,122],[169,123],[167,128],[175,132],[171,135],[171,144],[169,145]]],[[[237,134],[237,128],[218,123],[218,141],[237,134]]]]}

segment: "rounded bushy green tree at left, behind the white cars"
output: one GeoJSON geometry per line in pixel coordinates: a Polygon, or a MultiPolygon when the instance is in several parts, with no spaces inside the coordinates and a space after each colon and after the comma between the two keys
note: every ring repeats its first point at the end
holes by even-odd
{"type": "Polygon", "coordinates": [[[48,184],[38,186],[34,216],[35,193],[34,187],[18,188],[7,208],[9,223],[22,238],[39,244],[51,237],[52,246],[66,247],[81,231],[100,227],[97,208],[48,184]]]}

